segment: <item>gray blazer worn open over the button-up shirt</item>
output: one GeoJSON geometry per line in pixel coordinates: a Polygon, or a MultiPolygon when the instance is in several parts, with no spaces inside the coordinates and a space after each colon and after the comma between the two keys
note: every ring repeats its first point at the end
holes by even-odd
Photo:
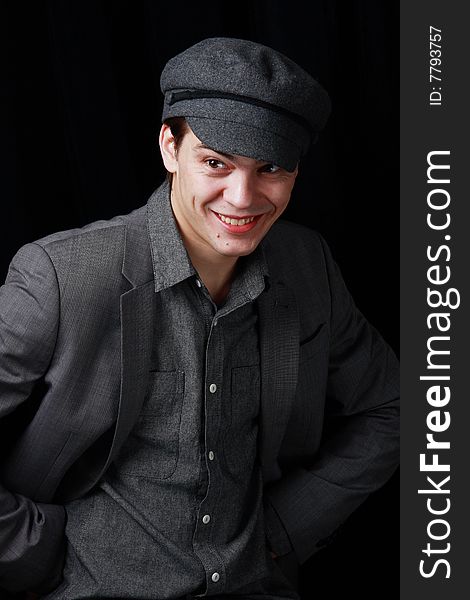
{"type": "MultiPolygon", "coordinates": [[[[398,366],[317,233],[280,221],[262,245],[266,526],[301,564],[397,466],[398,366]]],[[[157,301],[145,206],[14,257],[0,288],[0,588],[60,578],[63,503],[97,483],[136,421],[157,301]]]]}

